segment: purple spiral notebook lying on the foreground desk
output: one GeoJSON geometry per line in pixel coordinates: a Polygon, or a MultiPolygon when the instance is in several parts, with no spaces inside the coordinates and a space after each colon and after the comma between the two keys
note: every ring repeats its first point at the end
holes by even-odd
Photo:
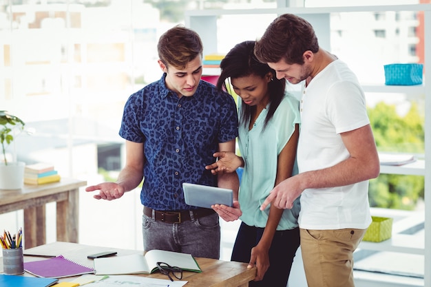
{"type": "Polygon", "coordinates": [[[24,262],[24,270],[37,277],[61,278],[94,273],[94,269],[83,266],[59,255],[50,259],[24,262]]]}

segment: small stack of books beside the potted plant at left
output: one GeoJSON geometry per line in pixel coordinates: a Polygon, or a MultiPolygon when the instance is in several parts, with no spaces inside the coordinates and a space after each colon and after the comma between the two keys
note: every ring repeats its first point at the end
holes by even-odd
{"type": "Polygon", "coordinates": [[[54,169],[54,165],[52,164],[39,162],[26,165],[24,169],[25,184],[59,182],[60,179],[59,173],[54,169]]]}

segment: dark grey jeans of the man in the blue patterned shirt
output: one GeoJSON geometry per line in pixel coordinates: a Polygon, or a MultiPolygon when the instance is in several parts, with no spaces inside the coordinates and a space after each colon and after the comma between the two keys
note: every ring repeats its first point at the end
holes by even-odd
{"type": "Polygon", "coordinates": [[[220,257],[220,224],[214,213],[186,222],[165,223],[143,215],[144,251],[161,249],[193,257],[220,257]]]}

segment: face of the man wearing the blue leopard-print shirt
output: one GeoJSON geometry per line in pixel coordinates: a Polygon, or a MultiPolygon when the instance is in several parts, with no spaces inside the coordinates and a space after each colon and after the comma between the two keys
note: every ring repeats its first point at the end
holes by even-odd
{"type": "Polygon", "coordinates": [[[197,56],[182,70],[173,66],[166,67],[161,61],[158,63],[162,71],[167,73],[165,79],[167,88],[176,92],[178,98],[195,94],[202,76],[202,56],[197,56]]]}

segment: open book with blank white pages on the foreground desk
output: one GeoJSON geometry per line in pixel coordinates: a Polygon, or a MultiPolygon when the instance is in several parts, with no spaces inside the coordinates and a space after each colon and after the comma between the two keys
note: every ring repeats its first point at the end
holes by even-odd
{"type": "Polygon", "coordinates": [[[156,249],[148,251],[145,255],[95,258],[94,270],[96,275],[154,273],[158,270],[157,262],[164,262],[182,270],[202,272],[198,262],[190,254],[156,249]]]}

